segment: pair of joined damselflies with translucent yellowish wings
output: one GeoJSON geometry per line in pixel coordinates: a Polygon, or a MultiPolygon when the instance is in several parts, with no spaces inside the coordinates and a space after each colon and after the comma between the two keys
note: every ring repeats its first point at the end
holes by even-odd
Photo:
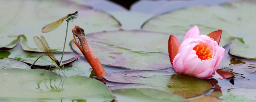
{"type": "MultiPolygon", "coordinates": [[[[52,53],[50,46],[48,45],[46,39],[43,36],[37,37],[34,36],[34,42],[36,43],[36,46],[44,53],[42,55],[40,55],[36,61],[38,59],[40,59],[40,57],[42,57],[43,55],[46,55],[48,57],[50,57],[50,59],[52,59],[52,61],[54,62],[54,64],[56,65],[57,68],[61,69],[62,68],[62,59],[63,59],[63,55],[64,55],[64,49],[65,49],[65,45],[66,45],[66,38],[67,38],[67,33],[68,33],[68,22],[71,20],[76,19],[78,16],[78,11],[76,11],[73,14],[68,14],[65,17],[60,18],[59,20],[56,20],[46,26],[44,26],[42,28],[42,33],[47,33],[50,32],[54,29],[56,29],[58,26],[60,26],[62,24],[62,22],[64,20],[67,21],[67,27],[66,27],[66,37],[65,37],[65,41],[64,41],[64,47],[63,47],[63,51],[62,51],[62,57],[60,59],[60,62],[56,59],[56,57],[54,56],[54,54],[52,53]]],[[[32,65],[34,65],[36,63],[36,61],[34,61],[34,63],[32,63],[32,65]]],[[[32,65],[30,65],[30,67],[32,67],[32,65]]]]}

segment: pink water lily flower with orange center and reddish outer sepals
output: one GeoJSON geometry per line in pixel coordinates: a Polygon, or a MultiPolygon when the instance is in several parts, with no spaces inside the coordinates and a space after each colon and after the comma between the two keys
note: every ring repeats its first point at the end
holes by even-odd
{"type": "Polygon", "coordinates": [[[180,44],[170,35],[168,51],[174,71],[198,78],[209,78],[219,67],[225,49],[220,47],[221,30],[200,35],[197,26],[186,33],[180,44]]]}

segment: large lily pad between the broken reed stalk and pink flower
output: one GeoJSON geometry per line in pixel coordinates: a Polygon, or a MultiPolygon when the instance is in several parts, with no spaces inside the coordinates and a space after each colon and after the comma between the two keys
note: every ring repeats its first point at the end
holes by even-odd
{"type": "MultiPolygon", "coordinates": [[[[134,70],[171,67],[166,33],[121,30],[91,33],[86,37],[102,65],[134,70]]],[[[80,52],[74,43],[72,48],[80,52]]]]}

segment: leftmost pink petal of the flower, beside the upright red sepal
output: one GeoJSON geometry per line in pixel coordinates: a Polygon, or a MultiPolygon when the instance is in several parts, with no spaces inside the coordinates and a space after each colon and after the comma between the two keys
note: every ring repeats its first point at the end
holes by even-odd
{"type": "Polygon", "coordinates": [[[173,69],[177,73],[184,73],[184,65],[183,65],[183,60],[182,57],[180,57],[180,53],[178,53],[174,59],[173,59],[173,69]]]}

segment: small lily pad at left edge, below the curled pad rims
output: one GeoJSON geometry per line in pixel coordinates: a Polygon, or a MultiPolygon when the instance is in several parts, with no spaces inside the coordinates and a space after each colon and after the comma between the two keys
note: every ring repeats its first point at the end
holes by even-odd
{"type": "Polygon", "coordinates": [[[0,59],[0,69],[10,69],[10,68],[18,68],[18,69],[31,69],[27,64],[17,61],[15,59],[3,58],[0,59]]]}

